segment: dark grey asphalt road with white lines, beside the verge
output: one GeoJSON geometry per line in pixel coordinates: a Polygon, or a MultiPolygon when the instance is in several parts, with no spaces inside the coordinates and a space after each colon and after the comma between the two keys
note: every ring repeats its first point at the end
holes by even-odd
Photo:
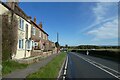
{"type": "Polygon", "coordinates": [[[67,65],[66,78],[73,80],[78,78],[119,79],[118,63],[109,60],[70,52],[67,65]]]}

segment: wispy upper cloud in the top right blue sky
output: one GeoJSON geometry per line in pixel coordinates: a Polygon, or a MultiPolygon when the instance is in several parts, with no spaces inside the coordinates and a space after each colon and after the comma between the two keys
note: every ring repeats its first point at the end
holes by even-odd
{"type": "Polygon", "coordinates": [[[108,22],[110,20],[114,20],[115,18],[118,17],[117,12],[111,12],[114,10],[111,9],[117,9],[117,3],[105,3],[105,2],[99,2],[96,3],[96,6],[92,8],[92,12],[93,15],[95,17],[95,20],[93,21],[93,23],[91,25],[89,25],[88,27],[84,28],[83,30],[81,30],[81,33],[84,33],[96,26],[98,26],[99,24],[103,24],[105,22],[108,22]]]}

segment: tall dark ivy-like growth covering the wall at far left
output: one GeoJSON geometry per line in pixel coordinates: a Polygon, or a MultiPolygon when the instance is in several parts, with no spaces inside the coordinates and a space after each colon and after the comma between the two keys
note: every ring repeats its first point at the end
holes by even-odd
{"type": "Polygon", "coordinates": [[[16,54],[18,42],[18,21],[10,12],[2,15],[2,59],[9,60],[16,54]]]}

